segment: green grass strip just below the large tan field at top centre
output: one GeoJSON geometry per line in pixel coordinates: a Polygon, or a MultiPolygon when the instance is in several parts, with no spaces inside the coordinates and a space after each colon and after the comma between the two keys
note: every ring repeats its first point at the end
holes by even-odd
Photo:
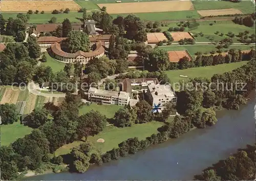
{"type": "MultiPolygon", "coordinates": [[[[184,20],[187,18],[200,18],[197,11],[173,11],[173,12],[155,12],[155,13],[134,13],[142,20],[164,21],[164,20],[184,20]]],[[[127,16],[129,14],[111,14],[114,18],[117,16],[127,16]]]]}

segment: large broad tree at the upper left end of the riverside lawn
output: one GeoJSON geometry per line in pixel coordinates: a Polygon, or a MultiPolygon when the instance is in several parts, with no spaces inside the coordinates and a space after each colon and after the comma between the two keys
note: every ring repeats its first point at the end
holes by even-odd
{"type": "Polygon", "coordinates": [[[90,111],[79,117],[78,138],[97,135],[103,131],[106,117],[98,111],[90,111]]]}

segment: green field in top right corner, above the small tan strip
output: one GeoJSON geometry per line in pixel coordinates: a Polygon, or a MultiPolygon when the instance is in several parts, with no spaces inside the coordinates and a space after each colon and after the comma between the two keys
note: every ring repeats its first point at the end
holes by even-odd
{"type": "Polygon", "coordinates": [[[251,1],[241,1],[232,3],[229,1],[192,1],[196,10],[214,10],[214,9],[239,9],[243,13],[253,13],[254,5],[251,1]]]}

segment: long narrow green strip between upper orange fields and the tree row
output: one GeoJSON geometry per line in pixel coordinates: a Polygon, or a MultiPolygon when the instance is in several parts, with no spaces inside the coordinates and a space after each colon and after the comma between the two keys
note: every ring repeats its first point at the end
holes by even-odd
{"type": "MultiPolygon", "coordinates": [[[[195,53],[197,51],[201,51],[203,54],[209,54],[210,51],[214,50],[217,51],[216,48],[217,45],[181,45],[181,46],[162,46],[160,48],[165,49],[167,51],[172,50],[187,50],[191,57],[195,58],[195,53]]],[[[251,49],[251,45],[246,46],[236,46],[236,45],[230,45],[227,49],[223,48],[222,51],[234,48],[234,49],[241,49],[241,50],[247,50],[251,49]]]]}

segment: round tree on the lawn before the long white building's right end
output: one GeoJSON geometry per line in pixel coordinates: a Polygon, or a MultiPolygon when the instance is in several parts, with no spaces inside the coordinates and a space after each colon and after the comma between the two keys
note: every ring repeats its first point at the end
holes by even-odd
{"type": "Polygon", "coordinates": [[[137,114],[134,109],[126,107],[119,109],[114,116],[114,124],[117,127],[132,126],[137,120],[137,114]]]}

